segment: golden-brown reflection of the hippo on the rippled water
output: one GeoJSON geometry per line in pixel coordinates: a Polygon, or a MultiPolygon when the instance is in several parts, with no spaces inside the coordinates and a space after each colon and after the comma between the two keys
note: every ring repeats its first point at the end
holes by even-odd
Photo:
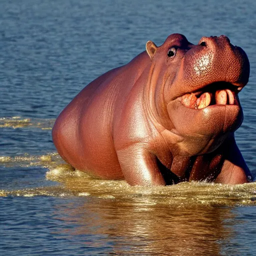
{"type": "Polygon", "coordinates": [[[220,255],[222,243],[233,235],[234,214],[229,207],[179,207],[154,203],[143,196],[84,199],[78,205],[56,206],[54,214],[72,223],[61,230],[62,235],[73,239],[98,235],[101,239],[93,239],[89,245],[98,248],[111,242],[111,254],[117,255],[220,255]]]}

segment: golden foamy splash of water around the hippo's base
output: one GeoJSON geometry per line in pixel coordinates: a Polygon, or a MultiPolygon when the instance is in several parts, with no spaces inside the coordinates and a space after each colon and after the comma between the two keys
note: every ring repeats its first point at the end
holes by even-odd
{"type": "Polygon", "coordinates": [[[45,178],[57,186],[0,190],[0,196],[90,196],[112,200],[130,200],[149,204],[188,205],[254,205],[256,183],[223,185],[206,182],[182,182],[171,186],[130,186],[124,180],[101,180],[64,163],[57,153],[31,156],[0,156],[0,164],[42,166],[45,178]]]}

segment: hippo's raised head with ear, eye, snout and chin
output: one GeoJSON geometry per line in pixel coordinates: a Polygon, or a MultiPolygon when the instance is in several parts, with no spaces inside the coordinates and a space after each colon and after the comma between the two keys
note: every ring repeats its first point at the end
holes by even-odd
{"type": "Polygon", "coordinates": [[[249,77],[245,52],[224,35],[194,45],[181,34],[169,35],[159,47],[148,41],[146,51],[157,113],[176,137],[179,154],[215,150],[243,119],[237,94],[249,77]]]}

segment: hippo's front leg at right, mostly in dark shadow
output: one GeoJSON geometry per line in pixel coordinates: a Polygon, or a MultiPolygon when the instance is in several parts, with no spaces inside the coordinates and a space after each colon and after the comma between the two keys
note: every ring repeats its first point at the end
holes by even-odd
{"type": "Polygon", "coordinates": [[[215,182],[223,184],[242,184],[252,180],[242,154],[237,147],[234,136],[224,143],[224,162],[215,182]]]}

